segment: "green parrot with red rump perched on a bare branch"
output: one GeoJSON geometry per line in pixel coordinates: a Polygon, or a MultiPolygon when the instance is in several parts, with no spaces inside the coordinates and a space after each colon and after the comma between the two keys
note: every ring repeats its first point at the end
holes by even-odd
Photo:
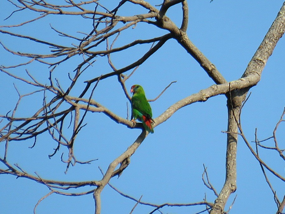
{"type": "Polygon", "coordinates": [[[152,119],[150,104],[145,98],[144,89],[140,85],[133,85],[131,87],[131,93],[133,93],[131,99],[133,119],[131,121],[135,122],[135,120],[138,119],[142,122],[146,131],[154,133],[154,120],[152,119]]]}

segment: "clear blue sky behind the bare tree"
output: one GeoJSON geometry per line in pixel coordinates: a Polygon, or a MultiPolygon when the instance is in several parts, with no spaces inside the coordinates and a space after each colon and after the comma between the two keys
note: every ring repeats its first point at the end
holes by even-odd
{"type": "MultiPolygon", "coordinates": [[[[56,2],[56,1],[54,1],[56,2]]],[[[64,1],[62,1],[64,3],[64,1]]],[[[119,1],[101,1],[106,7],[117,5],[119,1]],[[112,2],[112,3],[111,3],[112,2]],[[116,2],[114,4],[114,2],[116,2]]],[[[162,1],[149,1],[158,5],[162,1]]],[[[236,80],[245,71],[248,62],[263,40],[268,28],[274,21],[283,1],[222,1],[209,0],[188,1],[189,25],[188,36],[191,41],[216,65],[217,69],[227,81],[236,80]]],[[[18,24],[36,17],[31,12],[17,12],[11,18],[3,21],[15,9],[8,1],[1,1],[0,25],[18,24]]],[[[117,15],[132,16],[148,11],[138,6],[126,4],[117,15]]],[[[180,26],[181,5],[176,5],[167,12],[173,22],[180,26]]],[[[56,29],[82,37],[78,32],[90,32],[92,23],[86,19],[71,16],[47,16],[38,22],[22,27],[5,28],[15,33],[34,36],[50,42],[71,46],[69,39],[57,36],[50,29],[50,24],[56,29]]],[[[123,24],[119,24],[122,26],[123,24]]],[[[115,46],[124,45],[135,39],[148,39],[166,34],[154,26],[140,23],[135,29],[122,32],[115,46]]],[[[32,51],[48,53],[48,46],[35,45],[31,41],[12,38],[1,34],[1,42],[14,51],[32,51]]],[[[102,45],[98,48],[105,48],[102,45]]],[[[122,68],[139,59],[150,45],[140,45],[122,53],[111,55],[117,68],[122,68]]],[[[285,102],[285,41],[281,38],[272,56],[269,58],[262,73],[261,81],[250,89],[252,93],[242,110],[242,126],[249,141],[254,140],[254,130],[258,129],[258,138],[265,139],[272,136],[273,129],[280,119],[285,102]]],[[[28,61],[7,53],[0,47],[0,64],[15,65],[28,61]]],[[[94,66],[88,69],[79,79],[80,84],[71,93],[78,93],[85,87],[83,81],[92,79],[101,74],[111,72],[106,57],[98,57],[94,66]]],[[[54,72],[63,88],[68,87],[68,73],[72,73],[81,57],[74,57],[63,63],[54,72]]],[[[27,69],[38,80],[48,82],[48,67],[39,63],[32,63],[11,70],[13,74],[26,77],[27,69]]],[[[126,74],[129,74],[126,72],[126,74]]],[[[34,88],[27,87],[7,75],[0,73],[2,89],[0,97],[2,105],[0,114],[5,115],[13,109],[18,96],[13,83],[21,94],[29,93],[34,88]]],[[[174,40],[167,41],[153,56],[143,63],[134,75],[127,80],[126,86],[140,84],[144,87],[148,99],[155,98],[170,82],[166,92],[155,102],[151,102],[154,118],[162,114],[170,105],[213,85],[213,81],[205,71],[187,52],[174,40]]],[[[49,95],[47,95],[49,96],[49,95]]],[[[42,105],[43,94],[39,93],[23,99],[16,113],[17,117],[31,116],[42,105]]],[[[121,117],[126,117],[127,99],[121,90],[116,77],[99,82],[94,91],[93,99],[101,103],[121,117]]],[[[33,175],[38,173],[42,178],[85,181],[100,180],[102,178],[98,166],[105,172],[108,165],[130,146],[140,134],[139,129],[128,129],[124,125],[116,124],[104,114],[89,113],[86,127],[78,134],[74,144],[75,156],[80,161],[96,159],[92,164],[76,164],[64,174],[66,164],[60,161],[60,156],[67,158],[68,151],[61,148],[51,159],[57,143],[48,134],[37,138],[36,146],[33,139],[25,142],[11,142],[7,159],[12,164],[19,164],[21,168],[33,175]]],[[[1,123],[1,125],[3,125],[1,123]]],[[[216,96],[204,103],[194,103],[178,110],[163,124],[155,127],[154,134],[149,134],[140,148],[131,157],[131,164],[122,173],[120,178],[112,178],[110,183],[120,191],[141,201],[163,203],[192,203],[203,200],[205,193],[207,200],[214,202],[215,196],[203,185],[203,163],[212,185],[220,192],[225,181],[225,152],[227,109],[226,97],[216,96]]],[[[285,125],[281,124],[278,132],[280,148],[285,147],[285,125]]],[[[67,130],[66,134],[70,134],[67,130]]],[[[273,146],[273,140],[264,142],[266,146],[273,146]]],[[[254,143],[252,143],[254,146],[254,143]]],[[[0,157],[3,157],[5,143],[0,143],[0,157]]],[[[277,152],[261,150],[260,155],[266,163],[284,176],[284,162],[277,152]]],[[[0,164],[0,167],[3,167],[0,164]]],[[[279,181],[270,173],[268,178],[272,182],[279,199],[285,192],[284,182],[279,181]]],[[[89,190],[90,187],[76,189],[76,192],[89,190]]],[[[49,192],[44,185],[25,178],[16,179],[10,175],[0,176],[0,207],[1,212],[32,213],[37,201],[49,192]]],[[[235,195],[237,198],[230,213],[275,213],[276,204],[261,172],[259,163],[250,153],[242,139],[238,142],[237,153],[237,191],[231,195],[226,209],[230,206],[235,195]]],[[[102,192],[102,214],[130,213],[134,201],[120,196],[110,187],[102,192]]],[[[196,213],[204,206],[196,207],[164,207],[162,213],[196,213]]],[[[133,213],[149,213],[153,208],[138,205],[133,213]]],[[[37,207],[38,214],[46,213],[94,213],[92,194],[80,197],[66,197],[52,194],[43,200],[37,207]]],[[[159,213],[159,212],[157,212],[159,213]]]]}

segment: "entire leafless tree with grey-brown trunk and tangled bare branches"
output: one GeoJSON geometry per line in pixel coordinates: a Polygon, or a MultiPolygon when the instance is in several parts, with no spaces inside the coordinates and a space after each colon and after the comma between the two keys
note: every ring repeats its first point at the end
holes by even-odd
{"type": "MultiPolygon", "coordinates": [[[[262,160],[262,158],[259,156],[258,147],[262,148],[262,150],[275,150],[277,151],[281,159],[283,161],[285,160],[285,156],[283,155],[284,149],[279,148],[276,137],[276,131],[279,125],[285,121],[283,119],[283,116],[285,115],[285,108],[281,119],[276,124],[276,127],[273,131],[273,136],[268,138],[273,138],[274,146],[261,145],[260,143],[263,141],[258,141],[256,134],[255,152],[250,143],[245,138],[245,134],[243,133],[240,121],[240,114],[241,109],[245,103],[244,100],[247,95],[247,92],[251,87],[258,84],[269,56],[272,54],[273,49],[276,46],[278,40],[283,36],[285,29],[285,2],[278,13],[278,16],[270,27],[268,33],[264,37],[264,40],[262,41],[258,50],[249,62],[249,65],[242,77],[238,80],[227,82],[223,75],[221,75],[221,73],[217,70],[216,66],[211,61],[209,61],[207,57],[192,43],[189,36],[187,35],[189,9],[186,0],[164,0],[162,4],[159,5],[160,9],[157,9],[146,1],[138,0],[121,0],[116,4],[113,3],[113,9],[103,6],[101,2],[99,2],[99,0],[81,1],[78,3],[74,2],[73,0],[66,0],[65,3],[62,5],[58,5],[57,2],[55,4],[52,4],[45,0],[17,0],[15,1],[17,2],[17,4],[14,3],[12,0],[7,1],[12,3],[16,7],[16,9],[6,19],[9,19],[16,12],[21,12],[21,14],[23,13],[24,15],[24,12],[32,12],[32,14],[36,14],[36,16],[24,21],[21,21],[21,19],[17,19],[16,24],[0,26],[0,28],[7,27],[11,30],[8,31],[0,29],[0,33],[5,34],[10,38],[21,39],[23,41],[29,40],[33,42],[33,44],[37,44],[42,47],[49,47],[49,50],[47,52],[37,53],[37,51],[41,50],[33,49],[35,52],[31,53],[30,51],[15,51],[15,47],[13,47],[12,50],[12,48],[10,49],[9,45],[0,42],[4,50],[7,51],[7,53],[9,52],[12,55],[15,55],[15,57],[29,58],[28,61],[20,61],[18,62],[18,64],[17,62],[13,62],[12,65],[2,65],[0,67],[0,71],[2,73],[7,74],[7,77],[11,78],[12,80],[20,80],[21,83],[24,83],[27,86],[34,88],[32,92],[29,92],[25,95],[21,95],[20,90],[18,90],[14,85],[18,94],[18,100],[16,101],[15,107],[12,111],[9,111],[8,113],[5,112],[0,115],[0,117],[2,118],[2,120],[0,121],[0,123],[2,124],[2,127],[0,128],[0,142],[5,142],[4,153],[3,156],[0,158],[0,162],[2,163],[2,167],[0,168],[0,174],[13,175],[17,178],[27,178],[29,180],[43,184],[49,189],[50,192],[47,193],[45,196],[41,197],[36,203],[34,207],[34,213],[36,212],[36,208],[38,207],[40,202],[53,193],[64,196],[80,196],[92,193],[95,202],[95,214],[100,214],[102,210],[101,192],[107,185],[109,185],[116,192],[121,194],[121,196],[135,201],[135,205],[130,213],[134,211],[138,204],[152,207],[153,210],[150,212],[150,214],[156,211],[162,213],[160,209],[163,207],[190,207],[198,205],[206,206],[205,210],[198,213],[206,211],[211,214],[228,213],[236,199],[235,196],[232,204],[229,207],[229,210],[225,212],[224,209],[228,198],[230,197],[230,194],[232,194],[236,190],[236,147],[238,135],[243,138],[251,153],[258,160],[265,180],[268,183],[268,186],[270,187],[271,191],[273,192],[273,197],[278,207],[277,213],[281,213],[283,211],[285,205],[285,197],[283,198],[282,202],[279,201],[276,191],[273,189],[273,186],[271,185],[271,182],[268,179],[265,169],[267,169],[270,173],[275,175],[275,177],[280,179],[281,181],[285,181],[285,178],[283,178],[282,175],[279,174],[277,171],[274,171],[273,168],[269,167],[268,164],[264,160],[262,160]],[[140,7],[140,9],[143,9],[144,12],[138,14],[134,12],[135,15],[123,16],[124,14],[121,12],[121,10],[126,7],[127,4],[130,3],[134,7],[140,7]],[[170,7],[180,3],[182,5],[182,20],[181,27],[179,28],[169,17],[166,16],[166,12],[169,10],[170,7]],[[66,39],[66,41],[71,41],[71,46],[64,46],[61,45],[59,42],[41,40],[36,38],[36,36],[27,36],[21,33],[12,32],[12,29],[15,29],[15,27],[19,27],[17,29],[20,31],[20,26],[28,27],[29,24],[41,22],[44,17],[47,17],[48,15],[56,17],[64,15],[76,16],[78,18],[82,18],[83,20],[85,19],[90,21],[90,28],[86,30],[86,32],[75,31],[74,33],[76,34],[68,34],[64,31],[57,30],[50,25],[51,29],[49,30],[52,32],[55,31],[59,34],[58,36],[64,36],[64,39],[66,39]],[[141,39],[143,38],[143,36],[138,37],[139,39],[128,38],[129,40],[127,40],[127,42],[126,40],[124,40],[124,43],[120,41],[123,32],[128,33],[128,31],[131,31],[134,28],[138,28],[142,24],[148,24],[148,26],[151,25],[152,27],[166,30],[169,33],[158,37],[147,37],[148,39],[141,39]],[[124,170],[130,165],[132,155],[139,148],[139,146],[149,133],[144,130],[143,125],[141,123],[133,124],[131,121],[129,121],[128,112],[127,119],[125,119],[121,115],[117,115],[112,112],[110,110],[110,106],[101,105],[99,103],[100,100],[98,102],[96,96],[93,96],[93,94],[95,94],[95,88],[99,80],[101,83],[101,80],[103,79],[116,76],[118,81],[116,82],[116,84],[119,83],[122,88],[122,90],[120,90],[120,93],[124,93],[126,99],[130,101],[131,97],[125,85],[126,80],[132,77],[132,74],[136,71],[136,69],[147,59],[153,56],[154,53],[156,53],[162,46],[164,46],[166,41],[170,39],[176,40],[178,42],[178,45],[182,46],[188,52],[188,54],[190,54],[198,62],[198,64],[204,69],[204,71],[206,71],[207,75],[214,81],[216,85],[212,85],[210,87],[202,89],[198,93],[187,96],[174,104],[169,104],[169,108],[166,109],[164,113],[154,119],[154,126],[158,126],[159,124],[164,123],[178,109],[181,109],[187,105],[191,105],[195,102],[205,102],[209,98],[214,97],[216,95],[226,95],[227,98],[228,128],[226,131],[226,180],[219,194],[212,186],[208,177],[207,168],[203,165],[204,172],[202,174],[202,181],[204,182],[205,186],[212,190],[216,195],[217,198],[215,200],[215,203],[207,202],[206,194],[204,201],[197,203],[146,203],[141,201],[142,196],[140,197],[140,199],[137,200],[131,196],[128,196],[118,191],[109,183],[113,177],[119,177],[124,172],[124,170]],[[111,45],[109,45],[109,41],[112,41],[111,45]],[[105,42],[106,46],[102,48],[105,42]],[[150,47],[150,49],[146,49],[144,54],[142,54],[140,58],[138,57],[138,60],[136,60],[135,62],[128,62],[126,66],[124,65],[125,67],[117,69],[115,61],[112,61],[112,59],[114,60],[113,54],[115,56],[120,52],[131,50],[130,48],[138,48],[139,45],[145,45],[149,43],[152,43],[152,46],[150,47]],[[107,68],[107,70],[105,70],[105,67],[98,68],[94,66],[95,61],[97,61],[97,57],[107,58],[106,64],[107,67],[109,67],[107,68]],[[75,68],[72,68],[74,69],[73,72],[72,69],[70,71],[66,71],[66,66],[64,63],[69,62],[76,63],[76,65],[74,66],[75,68]],[[46,70],[46,74],[48,75],[48,77],[43,82],[39,81],[40,78],[35,78],[35,76],[33,76],[30,68],[29,71],[31,72],[26,69],[26,78],[16,74],[16,70],[21,69],[21,66],[30,66],[34,65],[35,63],[40,63],[40,65],[44,65],[45,67],[49,66],[46,70]],[[110,68],[112,72],[109,71],[110,68]],[[95,69],[97,69],[96,72],[94,72],[95,69]],[[98,69],[100,70],[98,71],[98,69]],[[62,82],[62,80],[59,79],[58,76],[55,76],[54,71],[57,70],[60,70],[61,73],[66,71],[66,75],[68,75],[68,79],[66,76],[66,80],[68,80],[67,85],[65,85],[65,82],[62,82]],[[131,73],[129,75],[124,74],[127,71],[130,71],[131,73]],[[86,84],[85,87],[84,85],[82,85],[83,82],[86,84]],[[43,93],[43,98],[41,98],[41,101],[38,103],[38,108],[35,111],[32,111],[32,113],[29,113],[31,114],[29,116],[18,116],[16,112],[18,111],[18,109],[20,109],[20,102],[22,102],[23,99],[26,99],[26,97],[34,95],[38,92],[43,93]],[[49,158],[55,156],[59,149],[60,151],[62,149],[65,149],[61,155],[61,161],[66,163],[65,173],[69,169],[69,166],[74,166],[76,163],[90,164],[94,160],[97,160],[92,159],[87,161],[79,161],[76,158],[77,155],[74,153],[74,145],[78,140],[77,138],[79,136],[79,133],[82,133],[80,131],[84,130],[83,127],[85,127],[86,125],[83,123],[83,121],[87,119],[87,114],[95,112],[103,113],[108,118],[112,119],[114,122],[123,124],[127,128],[142,129],[141,134],[126,149],[126,151],[118,155],[117,158],[114,158],[114,160],[108,165],[108,168],[105,173],[103,173],[103,171],[100,169],[103,175],[101,180],[81,182],[64,182],[52,179],[48,180],[41,178],[37,173],[37,176],[30,174],[28,172],[29,170],[21,168],[17,163],[14,164],[8,162],[8,150],[10,149],[10,143],[12,141],[24,142],[27,139],[34,138],[34,143],[30,147],[33,148],[36,145],[37,136],[43,133],[49,134],[49,138],[52,140],[52,142],[56,143],[51,147],[53,151],[49,155],[49,158]],[[73,124],[73,127],[69,129],[68,126],[68,128],[66,129],[66,123],[67,126],[68,124],[69,126],[73,124]],[[240,133],[238,132],[238,130],[240,130],[240,133]],[[64,154],[66,156],[64,156],[64,154]],[[76,193],[66,191],[87,186],[90,186],[89,190],[84,190],[76,193]],[[209,211],[210,209],[211,211],[209,211]]],[[[161,30],[159,31],[158,35],[161,35],[161,30]]],[[[21,47],[21,43],[18,43],[17,45],[21,47]]],[[[171,82],[155,99],[148,101],[157,100],[164,93],[164,91],[174,82],[176,81],[171,82]]]]}

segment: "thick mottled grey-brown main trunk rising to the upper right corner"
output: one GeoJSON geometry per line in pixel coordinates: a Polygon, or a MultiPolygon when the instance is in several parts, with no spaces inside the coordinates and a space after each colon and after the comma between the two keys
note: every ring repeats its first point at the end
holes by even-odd
{"type": "MultiPolygon", "coordinates": [[[[261,73],[266,65],[268,58],[272,55],[273,50],[283,36],[285,31],[285,2],[263,41],[250,60],[243,77],[252,77],[253,82],[259,82],[261,73]],[[257,75],[256,75],[257,74],[257,75]]],[[[244,87],[240,90],[231,91],[227,95],[228,107],[228,129],[227,129],[227,151],[226,151],[226,181],[215,200],[210,214],[223,214],[226,202],[231,193],[236,190],[236,152],[237,152],[237,134],[240,110],[242,102],[251,87],[244,87]]]]}

